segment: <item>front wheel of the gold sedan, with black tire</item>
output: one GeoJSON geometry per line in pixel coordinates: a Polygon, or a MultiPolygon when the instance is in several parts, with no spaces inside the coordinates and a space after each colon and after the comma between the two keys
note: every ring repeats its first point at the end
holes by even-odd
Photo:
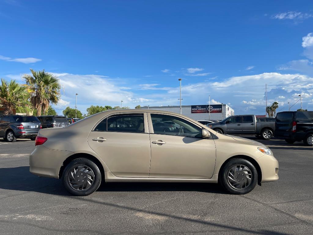
{"type": "MultiPolygon", "coordinates": [[[[239,168],[235,167],[235,169],[237,170],[239,168]]],[[[246,170],[246,169],[244,168],[244,170],[246,170]]],[[[223,166],[223,169],[220,170],[220,174],[218,176],[218,183],[220,185],[222,185],[222,187],[225,190],[227,190],[228,192],[233,193],[233,194],[249,193],[254,189],[257,182],[258,182],[258,171],[255,169],[254,165],[251,162],[249,162],[246,159],[242,159],[242,158],[230,159],[223,166]],[[232,168],[234,168],[235,166],[238,166],[238,165],[248,168],[247,172],[249,174],[245,174],[245,173],[241,172],[241,170],[235,171],[236,173],[231,170],[232,168]],[[234,178],[234,180],[229,178],[228,174],[230,174],[230,176],[233,175],[233,176],[231,176],[231,178],[234,178]],[[237,174],[239,174],[239,175],[237,175],[237,174]],[[238,178],[238,177],[242,177],[242,178],[238,178]],[[237,186],[240,188],[240,184],[244,184],[244,185],[241,185],[242,189],[237,189],[235,187],[237,185],[237,183],[235,183],[235,181],[237,182],[237,179],[238,179],[238,181],[244,179],[244,180],[242,180],[243,183],[240,182],[240,183],[238,183],[239,185],[237,186]],[[251,179],[250,182],[248,179],[251,179]],[[231,182],[234,185],[232,185],[231,182]]]]}

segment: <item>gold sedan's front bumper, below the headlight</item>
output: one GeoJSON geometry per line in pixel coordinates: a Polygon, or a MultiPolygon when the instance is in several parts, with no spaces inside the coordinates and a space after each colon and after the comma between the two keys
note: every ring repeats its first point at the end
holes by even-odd
{"type": "Polygon", "coordinates": [[[275,157],[264,154],[264,156],[257,159],[262,172],[261,183],[276,181],[279,179],[278,170],[279,164],[275,157]]]}

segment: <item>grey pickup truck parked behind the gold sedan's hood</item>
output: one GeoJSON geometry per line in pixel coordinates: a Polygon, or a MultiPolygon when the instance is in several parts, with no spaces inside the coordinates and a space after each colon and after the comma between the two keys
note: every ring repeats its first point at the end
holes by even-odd
{"type": "Polygon", "coordinates": [[[275,131],[275,121],[266,118],[265,122],[257,122],[255,115],[237,115],[225,118],[219,123],[207,125],[218,133],[230,135],[255,135],[263,139],[271,139],[275,131]]]}

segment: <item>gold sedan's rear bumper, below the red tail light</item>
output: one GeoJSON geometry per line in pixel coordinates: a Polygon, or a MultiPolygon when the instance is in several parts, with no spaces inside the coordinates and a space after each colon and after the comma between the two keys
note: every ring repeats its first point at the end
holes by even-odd
{"type": "Polygon", "coordinates": [[[38,145],[29,155],[29,171],[34,175],[59,179],[59,170],[73,152],[63,150],[51,150],[38,145]]]}

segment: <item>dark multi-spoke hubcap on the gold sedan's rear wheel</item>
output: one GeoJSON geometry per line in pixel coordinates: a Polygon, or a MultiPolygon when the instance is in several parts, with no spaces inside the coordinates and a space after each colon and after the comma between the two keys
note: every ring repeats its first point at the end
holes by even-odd
{"type": "Polygon", "coordinates": [[[94,172],[85,165],[72,168],[68,175],[69,185],[77,191],[85,191],[90,188],[95,179],[94,172]]]}

